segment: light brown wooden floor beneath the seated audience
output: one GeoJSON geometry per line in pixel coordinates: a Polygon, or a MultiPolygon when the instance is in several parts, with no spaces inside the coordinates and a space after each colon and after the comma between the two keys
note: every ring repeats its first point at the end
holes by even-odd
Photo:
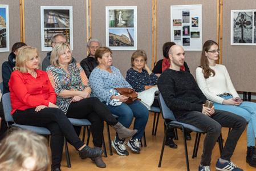
{"type": "MultiPolygon", "coordinates": [[[[165,146],[164,156],[162,159],[162,166],[158,168],[159,156],[161,151],[162,139],[164,137],[164,127],[163,127],[163,120],[159,120],[159,128],[157,129],[157,135],[152,136],[152,124],[153,123],[153,113],[149,114],[149,120],[146,128],[146,137],[147,137],[147,147],[141,148],[140,154],[132,153],[129,150],[129,156],[119,156],[113,151],[113,156],[109,156],[109,149],[108,149],[108,141],[107,141],[107,131],[104,129],[104,136],[107,145],[107,152],[108,157],[103,157],[103,160],[107,164],[107,168],[100,169],[97,168],[96,165],[87,158],[86,160],[81,160],[78,156],[78,152],[72,147],[69,146],[70,155],[71,155],[71,168],[67,168],[66,157],[63,151],[63,160],[62,160],[62,170],[125,170],[125,171],[132,171],[132,170],[186,170],[185,164],[185,155],[184,155],[184,145],[182,141],[181,132],[178,131],[179,140],[175,141],[178,145],[177,149],[171,149],[169,146],[165,146]]],[[[111,136],[112,139],[115,136],[115,132],[111,129],[111,136]]],[[[189,154],[189,164],[190,170],[198,170],[198,165],[200,164],[200,158],[202,154],[202,143],[204,140],[204,136],[201,137],[200,147],[198,149],[197,158],[192,159],[192,152],[193,152],[193,145],[194,139],[196,134],[192,133],[192,141],[188,141],[188,154],[189,154]]],[[[227,136],[227,128],[222,129],[222,136],[224,140],[226,140],[227,136]]],[[[90,146],[92,146],[92,141],[90,141],[90,146]]],[[[256,170],[249,166],[246,163],[246,132],[243,132],[241,136],[237,148],[233,154],[231,160],[243,168],[243,170],[256,170]]],[[[218,150],[218,144],[214,147],[213,155],[212,155],[212,165],[211,169],[215,170],[215,164],[217,158],[220,157],[220,152],[218,150]]]]}

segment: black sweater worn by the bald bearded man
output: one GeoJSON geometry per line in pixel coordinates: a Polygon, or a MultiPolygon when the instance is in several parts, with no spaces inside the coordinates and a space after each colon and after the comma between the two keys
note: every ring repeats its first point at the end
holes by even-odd
{"type": "Polygon", "coordinates": [[[189,72],[168,68],[162,72],[157,86],[176,118],[181,119],[189,111],[202,112],[202,104],[207,99],[189,72]]]}

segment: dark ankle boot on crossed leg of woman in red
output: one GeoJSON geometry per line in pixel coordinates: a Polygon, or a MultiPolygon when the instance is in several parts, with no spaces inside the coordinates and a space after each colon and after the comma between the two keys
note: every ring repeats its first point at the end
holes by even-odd
{"type": "Polygon", "coordinates": [[[102,153],[103,153],[102,149],[91,148],[90,146],[86,145],[82,150],[79,151],[79,156],[82,159],[85,159],[86,157],[96,158],[98,156],[101,156],[102,153]]]}

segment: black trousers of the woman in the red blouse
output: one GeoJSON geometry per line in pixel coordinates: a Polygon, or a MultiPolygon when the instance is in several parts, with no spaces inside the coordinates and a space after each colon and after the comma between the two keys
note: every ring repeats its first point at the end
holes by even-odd
{"type": "Polygon", "coordinates": [[[67,116],[58,108],[44,108],[39,112],[35,112],[35,108],[26,109],[25,111],[16,110],[13,119],[17,124],[49,129],[51,132],[52,168],[60,168],[64,136],[76,149],[84,145],[83,141],[76,135],[67,116]]]}

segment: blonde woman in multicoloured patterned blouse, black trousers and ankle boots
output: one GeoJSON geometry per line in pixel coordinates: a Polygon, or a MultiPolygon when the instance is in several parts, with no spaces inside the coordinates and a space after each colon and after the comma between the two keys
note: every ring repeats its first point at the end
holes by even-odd
{"type": "MultiPolygon", "coordinates": [[[[93,143],[100,148],[103,140],[103,121],[112,125],[123,138],[133,136],[137,131],[121,125],[108,108],[96,97],[90,97],[91,87],[79,63],[71,63],[71,49],[67,43],[60,42],[51,52],[51,66],[47,68],[48,77],[57,94],[56,105],[67,117],[88,119],[91,125],[93,143]]],[[[92,158],[99,168],[105,168],[101,156],[92,158]]]]}

